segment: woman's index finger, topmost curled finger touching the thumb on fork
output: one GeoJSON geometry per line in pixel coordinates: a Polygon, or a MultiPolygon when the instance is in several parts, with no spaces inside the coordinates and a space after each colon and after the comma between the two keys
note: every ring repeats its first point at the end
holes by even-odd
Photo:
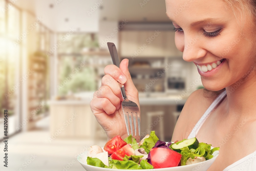
{"type": "Polygon", "coordinates": [[[124,84],[126,82],[125,74],[115,65],[107,65],[104,68],[104,73],[111,75],[116,81],[124,84]]]}

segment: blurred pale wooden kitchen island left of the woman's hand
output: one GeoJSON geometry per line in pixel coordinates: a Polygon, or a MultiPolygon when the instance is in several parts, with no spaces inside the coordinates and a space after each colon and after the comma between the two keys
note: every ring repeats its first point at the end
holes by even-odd
{"type": "Polygon", "coordinates": [[[50,102],[50,137],[94,138],[97,121],[83,101],[50,102]]]}

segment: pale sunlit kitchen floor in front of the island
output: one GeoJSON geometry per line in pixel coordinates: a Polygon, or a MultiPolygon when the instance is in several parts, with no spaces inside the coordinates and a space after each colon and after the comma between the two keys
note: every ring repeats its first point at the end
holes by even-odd
{"type": "MultiPolygon", "coordinates": [[[[8,139],[8,171],[84,171],[77,161],[77,155],[97,144],[104,146],[104,140],[55,139],[50,142],[48,130],[22,132],[8,139]]],[[[3,159],[4,144],[0,142],[0,158],[3,159]]],[[[1,160],[2,163],[2,160],[1,160]]]]}

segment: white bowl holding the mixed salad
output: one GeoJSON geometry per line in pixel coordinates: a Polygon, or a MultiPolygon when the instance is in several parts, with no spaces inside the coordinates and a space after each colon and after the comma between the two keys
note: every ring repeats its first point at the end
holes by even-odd
{"type": "MultiPolygon", "coordinates": [[[[213,148],[213,147],[212,147],[213,148]]],[[[105,151],[102,147],[102,150],[105,151]]],[[[168,167],[168,168],[161,168],[161,169],[138,169],[138,170],[144,170],[144,171],[154,171],[154,170],[159,170],[159,171],[206,171],[212,163],[215,161],[215,159],[219,155],[219,151],[214,151],[212,154],[213,157],[209,160],[202,161],[200,163],[195,163],[191,165],[185,165],[185,166],[177,166],[177,167],[168,167]]],[[[83,166],[84,169],[87,171],[110,171],[110,170],[124,170],[124,171],[130,171],[131,169],[108,169],[108,168],[102,168],[102,167],[96,167],[96,166],[91,166],[87,164],[87,151],[84,153],[81,153],[78,155],[77,160],[79,163],[83,166]]]]}

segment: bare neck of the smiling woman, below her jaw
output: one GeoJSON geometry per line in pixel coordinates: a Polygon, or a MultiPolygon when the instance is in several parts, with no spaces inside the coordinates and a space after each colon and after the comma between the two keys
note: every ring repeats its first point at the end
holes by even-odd
{"type": "Polygon", "coordinates": [[[255,116],[256,111],[256,72],[251,70],[242,79],[226,87],[228,114],[255,116]]]}

